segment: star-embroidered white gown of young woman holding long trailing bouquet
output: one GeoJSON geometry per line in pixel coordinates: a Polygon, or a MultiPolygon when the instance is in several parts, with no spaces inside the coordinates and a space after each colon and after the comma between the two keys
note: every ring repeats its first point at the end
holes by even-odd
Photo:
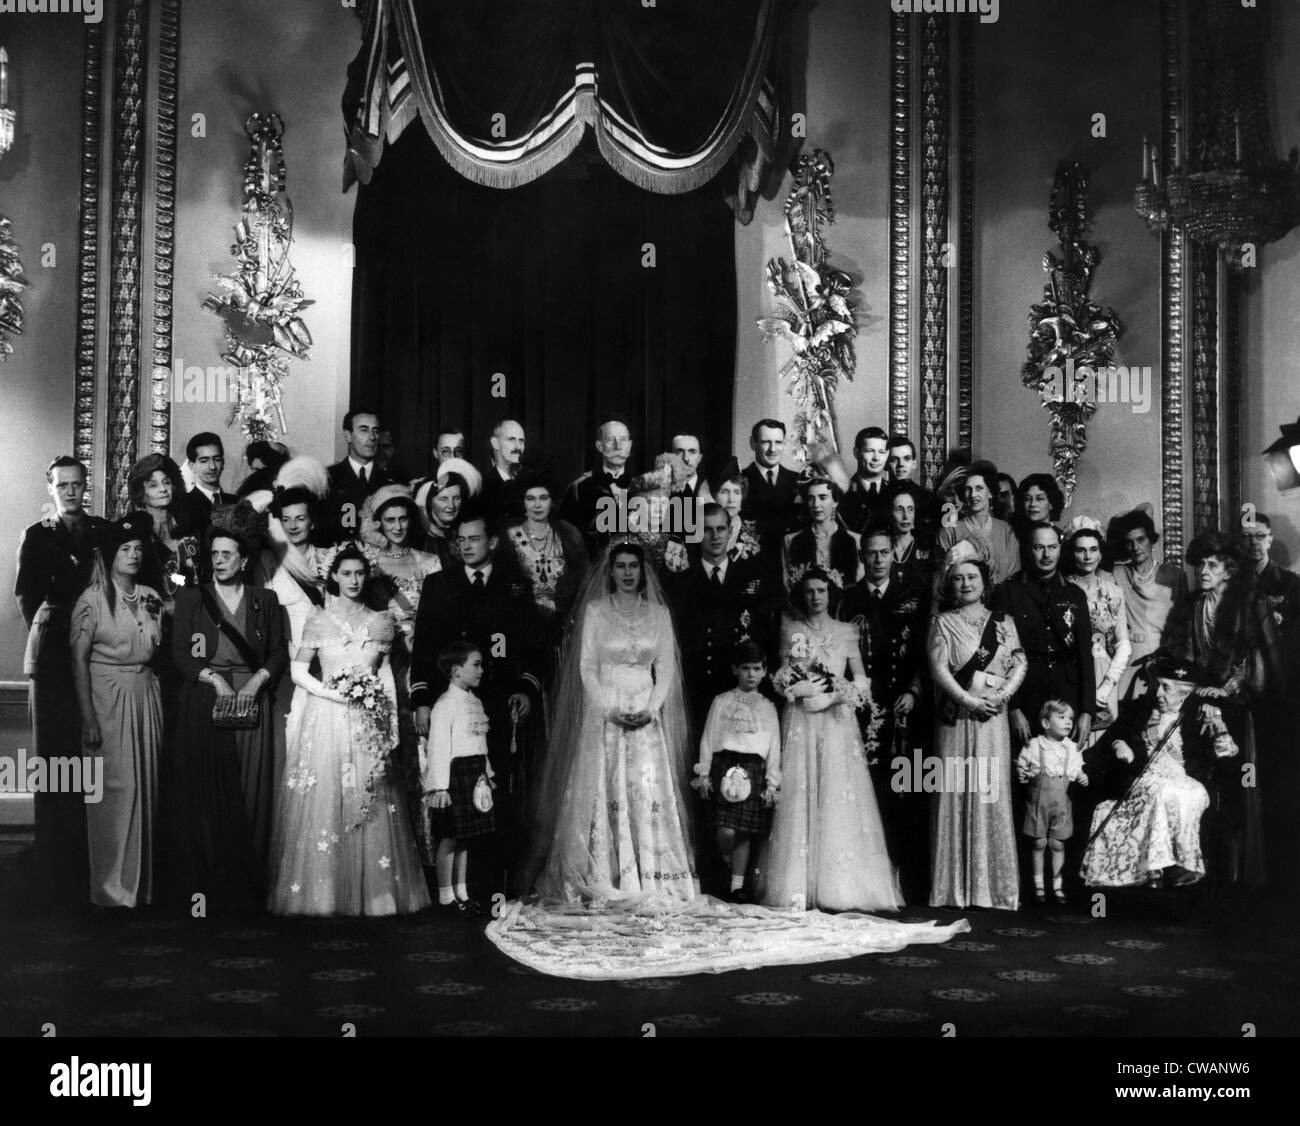
{"type": "MultiPolygon", "coordinates": [[[[387,614],[356,624],[313,610],[303,646],[320,658],[321,680],[344,668],[378,674],[393,702],[390,742],[398,742],[387,614]]],[[[354,739],[348,707],[307,696],[290,718],[285,775],[272,839],[270,910],[285,915],[393,915],[429,905],[411,823],[391,775],[365,740],[354,739]]]]}

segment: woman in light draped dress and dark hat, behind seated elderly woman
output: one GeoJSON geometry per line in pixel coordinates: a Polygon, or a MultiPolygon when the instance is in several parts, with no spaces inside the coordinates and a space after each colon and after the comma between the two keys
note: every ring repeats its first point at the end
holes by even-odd
{"type": "Polygon", "coordinates": [[[1112,520],[1108,536],[1115,555],[1128,560],[1115,563],[1112,572],[1124,597],[1128,619],[1128,667],[1119,677],[1117,692],[1117,698],[1123,701],[1128,698],[1134,676],[1161,646],[1170,611],[1187,593],[1187,572],[1178,563],[1156,560],[1160,533],[1150,514],[1141,508],[1112,520]]]}

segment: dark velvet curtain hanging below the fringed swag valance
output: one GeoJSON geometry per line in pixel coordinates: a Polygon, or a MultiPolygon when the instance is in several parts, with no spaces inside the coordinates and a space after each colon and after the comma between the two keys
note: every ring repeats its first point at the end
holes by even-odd
{"type": "Polygon", "coordinates": [[[428,469],[441,425],[464,428],[482,465],[503,417],[523,423],[530,452],[545,446],[560,488],[594,462],[611,413],[629,424],[636,471],[680,432],[706,458],[729,450],[724,195],[712,182],[645,191],[588,144],[530,183],[484,187],[407,130],[356,202],[354,403],[374,404],[412,473],[428,469]]]}

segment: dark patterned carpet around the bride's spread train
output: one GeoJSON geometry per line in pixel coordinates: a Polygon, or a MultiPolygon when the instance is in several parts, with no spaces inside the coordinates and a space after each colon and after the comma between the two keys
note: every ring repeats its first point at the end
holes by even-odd
{"type": "Polygon", "coordinates": [[[0,835],[0,1035],[47,1022],[58,1036],[1300,1032],[1295,909],[1199,889],[1112,895],[1105,918],[971,911],[971,934],[915,953],[582,983],[510,962],[459,914],[48,914],[17,884],[21,844],[0,835]]]}

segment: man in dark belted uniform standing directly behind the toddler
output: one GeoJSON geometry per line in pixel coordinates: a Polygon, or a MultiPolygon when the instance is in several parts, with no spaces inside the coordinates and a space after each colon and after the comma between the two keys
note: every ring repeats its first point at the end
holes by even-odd
{"type": "MultiPolygon", "coordinates": [[[[1011,735],[1015,749],[1039,733],[1039,713],[1049,700],[1063,700],[1074,709],[1072,739],[1080,750],[1088,742],[1097,710],[1097,676],[1092,664],[1092,620],[1088,599],[1060,572],[1061,533],[1050,524],[1030,524],[1024,534],[1030,570],[1019,571],[994,592],[991,609],[1015,619],[1028,671],[1020,690],[1011,698],[1011,735]]],[[[1082,802],[1082,800],[1080,800],[1082,802]]],[[[1024,793],[1015,789],[1015,823],[1020,823],[1024,793]]],[[[1076,824],[1088,824],[1088,809],[1074,811],[1076,824]]],[[[1083,835],[1066,843],[1066,869],[1079,870],[1083,835]]]]}

